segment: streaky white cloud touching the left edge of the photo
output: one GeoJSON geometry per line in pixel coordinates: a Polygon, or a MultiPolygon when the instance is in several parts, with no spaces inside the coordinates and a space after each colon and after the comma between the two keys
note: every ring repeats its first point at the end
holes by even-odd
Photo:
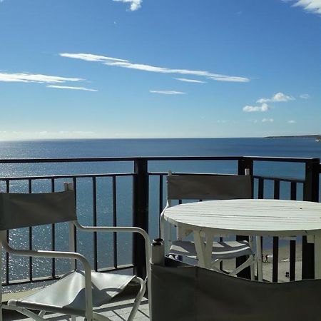
{"type": "Polygon", "coordinates": [[[0,81],[20,83],[64,83],[66,81],[83,81],[83,79],[32,73],[0,73],[0,81]]]}

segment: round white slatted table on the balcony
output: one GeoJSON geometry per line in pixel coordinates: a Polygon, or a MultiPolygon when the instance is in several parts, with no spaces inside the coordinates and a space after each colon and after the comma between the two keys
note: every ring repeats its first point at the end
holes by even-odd
{"type": "MultiPolygon", "coordinates": [[[[321,278],[321,203],[298,200],[208,200],[167,208],[169,223],[205,238],[214,235],[307,235],[315,243],[315,278],[321,278]]],[[[195,240],[196,250],[198,240],[195,240]]],[[[200,248],[199,248],[200,251],[200,248]]],[[[203,254],[206,257],[206,250],[203,254]]],[[[208,255],[210,251],[208,250],[208,255]]],[[[261,255],[258,253],[258,260],[261,255]]],[[[206,258],[205,258],[206,261],[206,258]]],[[[202,265],[206,265],[206,262],[202,265]]]]}

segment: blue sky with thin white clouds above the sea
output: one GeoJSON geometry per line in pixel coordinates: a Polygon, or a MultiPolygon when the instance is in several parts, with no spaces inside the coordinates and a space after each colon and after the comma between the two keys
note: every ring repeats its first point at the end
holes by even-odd
{"type": "Polygon", "coordinates": [[[0,0],[0,140],[321,133],[321,0],[0,0]]]}

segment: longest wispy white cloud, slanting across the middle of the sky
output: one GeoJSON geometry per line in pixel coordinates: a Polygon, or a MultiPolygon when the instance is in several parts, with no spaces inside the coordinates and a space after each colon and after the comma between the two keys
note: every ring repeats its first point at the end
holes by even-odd
{"type": "Polygon", "coordinates": [[[175,69],[175,68],[165,68],[158,66],[151,66],[143,63],[131,63],[128,60],[111,58],[106,56],[96,56],[91,54],[60,54],[60,56],[68,58],[77,58],[85,61],[101,61],[107,66],[116,66],[121,68],[130,68],[141,71],[150,71],[155,73],[178,73],[181,75],[191,75],[191,76],[201,76],[215,81],[232,81],[247,83],[250,81],[250,78],[240,77],[240,76],[227,76],[221,75],[219,73],[210,73],[208,71],[198,71],[198,70],[189,70],[189,69],[175,69]]]}

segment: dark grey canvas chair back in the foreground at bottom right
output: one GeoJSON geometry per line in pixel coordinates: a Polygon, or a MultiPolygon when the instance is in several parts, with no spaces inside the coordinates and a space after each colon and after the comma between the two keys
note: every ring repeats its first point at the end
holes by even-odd
{"type": "Polygon", "coordinates": [[[321,280],[258,282],[166,258],[151,281],[153,321],[320,320],[321,280]]]}

